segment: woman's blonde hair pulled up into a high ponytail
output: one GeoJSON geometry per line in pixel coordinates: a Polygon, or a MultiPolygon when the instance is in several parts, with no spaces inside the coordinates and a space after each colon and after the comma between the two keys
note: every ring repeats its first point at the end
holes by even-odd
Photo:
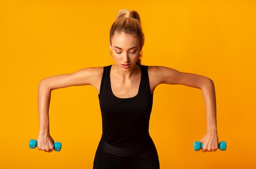
{"type": "MultiPolygon", "coordinates": [[[[118,11],[116,20],[110,28],[110,45],[112,45],[111,39],[115,33],[126,33],[135,35],[135,37],[139,38],[140,52],[136,64],[141,64],[141,57],[143,54],[141,50],[144,46],[145,37],[142,32],[139,13],[137,13],[137,11],[129,11],[128,9],[121,9],[118,11]]],[[[110,56],[112,56],[112,50],[110,50],[110,56]]]]}

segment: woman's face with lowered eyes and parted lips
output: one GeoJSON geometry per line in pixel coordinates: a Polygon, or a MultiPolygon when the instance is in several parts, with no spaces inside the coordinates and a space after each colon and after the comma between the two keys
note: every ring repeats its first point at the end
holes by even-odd
{"type": "Polygon", "coordinates": [[[116,65],[123,70],[130,70],[136,65],[139,58],[139,39],[133,35],[125,33],[116,33],[112,39],[112,50],[113,58],[116,65]],[[122,66],[122,64],[130,64],[128,68],[122,66]]]}

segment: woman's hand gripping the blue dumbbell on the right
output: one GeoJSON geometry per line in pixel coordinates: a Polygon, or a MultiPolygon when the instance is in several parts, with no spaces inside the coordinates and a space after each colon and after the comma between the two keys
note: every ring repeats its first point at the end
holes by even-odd
{"type": "Polygon", "coordinates": [[[207,132],[205,136],[200,141],[203,143],[202,152],[216,151],[219,146],[218,133],[216,132],[207,132]]]}

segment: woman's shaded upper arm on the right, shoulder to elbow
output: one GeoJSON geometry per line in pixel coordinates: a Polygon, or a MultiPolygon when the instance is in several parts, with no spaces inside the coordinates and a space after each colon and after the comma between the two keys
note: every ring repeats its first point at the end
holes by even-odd
{"type": "Polygon", "coordinates": [[[193,88],[201,89],[205,83],[212,81],[208,77],[197,75],[193,73],[180,72],[173,68],[165,66],[153,66],[155,71],[155,84],[156,86],[161,83],[165,84],[180,84],[193,88]]]}

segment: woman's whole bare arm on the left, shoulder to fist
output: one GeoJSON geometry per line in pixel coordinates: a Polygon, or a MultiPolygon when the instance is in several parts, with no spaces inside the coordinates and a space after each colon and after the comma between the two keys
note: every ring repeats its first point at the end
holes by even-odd
{"type": "Polygon", "coordinates": [[[47,77],[38,84],[38,149],[53,150],[54,140],[49,134],[49,105],[52,90],[69,86],[91,85],[102,74],[101,67],[84,68],[74,73],[47,77]]]}

